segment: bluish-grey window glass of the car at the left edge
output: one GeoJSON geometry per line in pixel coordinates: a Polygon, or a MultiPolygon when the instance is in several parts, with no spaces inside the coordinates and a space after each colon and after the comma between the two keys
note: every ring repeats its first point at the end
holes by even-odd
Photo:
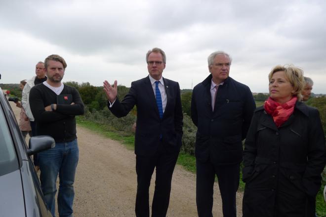
{"type": "MultiPolygon", "coordinates": [[[[0,105],[1,106],[1,105],[0,105]]],[[[18,159],[8,124],[0,107],[0,176],[18,169],[18,159]]]]}

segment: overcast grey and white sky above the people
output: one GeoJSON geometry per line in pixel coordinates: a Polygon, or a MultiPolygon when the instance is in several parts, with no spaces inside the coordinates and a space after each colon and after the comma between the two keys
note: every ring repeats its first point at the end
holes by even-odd
{"type": "Polygon", "coordinates": [[[181,89],[203,81],[208,55],[223,50],[252,92],[268,92],[274,66],[294,64],[326,94],[325,22],[325,0],[0,0],[0,83],[31,78],[59,54],[63,81],[130,87],[160,47],[163,76],[181,89]]]}

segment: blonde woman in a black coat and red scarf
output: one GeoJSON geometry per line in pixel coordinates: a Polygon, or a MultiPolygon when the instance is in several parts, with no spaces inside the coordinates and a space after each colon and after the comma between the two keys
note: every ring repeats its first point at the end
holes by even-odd
{"type": "Polygon", "coordinates": [[[276,66],[244,144],[243,217],[314,217],[326,146],[319,111],[301,103],[303,71],[276,66]]]}

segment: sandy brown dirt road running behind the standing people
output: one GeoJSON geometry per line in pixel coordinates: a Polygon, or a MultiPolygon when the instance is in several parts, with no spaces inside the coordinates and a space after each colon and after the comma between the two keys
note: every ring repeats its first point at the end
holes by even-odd
{"type": "MultiPolygon", "coordinates": [[[[11,103],[11,102],[10,102],[11,103]]],[[[11,104],[16,117],[20,109],[11,104]]],[[[134,217],[135,154],[120,143],[77,127],[80,158],[75,181],[76,217],[134,217]]],[[[150,187],[153,198],[155,176],[150,187]]],[[[213,216],[222,217],[218,184],[214,185],[213,216]]],[[[241,217],[242,193],[237,195],[241,217]]],[[[150,203],[151,204],[151,203],[150,203]]],[[[167,217],[196,217],[196,176],[176,166],[167,217]]]]}

